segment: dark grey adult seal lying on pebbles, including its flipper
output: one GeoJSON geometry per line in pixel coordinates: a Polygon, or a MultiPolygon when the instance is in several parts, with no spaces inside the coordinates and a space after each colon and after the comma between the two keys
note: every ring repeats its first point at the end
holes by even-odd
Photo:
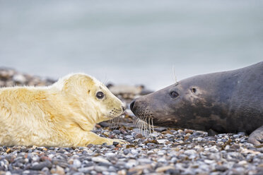
{"type": "Polygon", "coordinates": [[[263,62],[194,76],[131,102],[131,111],[157,126],[251,133],[263,140],[263,62]],[[150,120],[149,120],[150,119],[150,120]]]}

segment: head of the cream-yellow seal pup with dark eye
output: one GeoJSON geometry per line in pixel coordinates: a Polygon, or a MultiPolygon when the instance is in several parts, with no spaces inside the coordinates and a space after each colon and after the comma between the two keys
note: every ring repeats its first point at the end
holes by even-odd
{"type": "Polygon", "coordinates": [[[124,112],[121,100],[103,83],[84,73],[69,74],[52,86],[62,92],[74,112],[90,122],[110,120],[124,112]]]}

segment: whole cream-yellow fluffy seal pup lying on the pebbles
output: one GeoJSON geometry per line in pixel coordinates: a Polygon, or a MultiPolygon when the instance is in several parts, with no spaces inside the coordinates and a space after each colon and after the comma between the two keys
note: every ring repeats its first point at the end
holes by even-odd
{"type": "Polygon", "coordinates": [[[47,87],[0,89],[0,144],[85,146],[124,140],[102,138],[95,123],[123,113],[122,102],[95,78],[70,74],[47,87]]]}

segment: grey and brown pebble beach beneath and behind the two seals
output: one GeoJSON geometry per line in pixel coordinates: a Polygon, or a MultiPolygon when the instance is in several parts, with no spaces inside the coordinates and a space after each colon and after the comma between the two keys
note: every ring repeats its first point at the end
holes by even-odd
{"type": "MultiPolygon", "coordinates": [[[[51,85],[55,80],[0,68],[0,86],[51,85]]],[[[112,87],[112,85],[110,85],[112,87]]],[[[114,85],[113,85],[114,86],[114,85]]],[[[115,85],[117,87],[117,85],[115,85]]],[[[110,88],[110,87],[109,87],[110,88]]],[[[142,130],[129,110],[145,87],[115,88],[127,104],[119,119],[98,123],[93,132],[129,144],[86,147],[0,146],[0,174],[263,174],[263,147],[247,143],[246,133],[209,136],[189,128],[142,130]],[[123,89],[127,88],[127,93],[123,89]]],[[[113,90],[113,89],[112,89],[113,90]]]]}

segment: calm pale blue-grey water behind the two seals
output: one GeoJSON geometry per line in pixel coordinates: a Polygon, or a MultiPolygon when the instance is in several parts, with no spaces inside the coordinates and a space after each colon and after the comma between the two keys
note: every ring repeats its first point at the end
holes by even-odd
{"type": "Polygon", "coordinates": [[[153,90],[263,61],[263,1],[1,1],[0,66],[153,90]]]}

